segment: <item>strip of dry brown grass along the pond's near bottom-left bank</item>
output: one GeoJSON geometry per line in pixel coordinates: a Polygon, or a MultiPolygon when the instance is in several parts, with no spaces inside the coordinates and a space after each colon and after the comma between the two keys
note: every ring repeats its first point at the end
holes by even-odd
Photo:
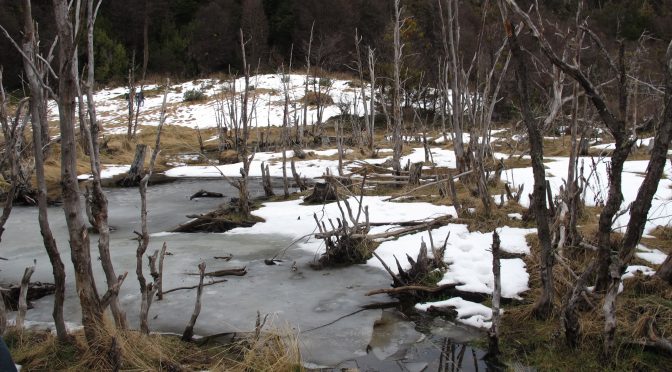
{"type": "Polygon", "coordinates": [[[77,331],[71,342],[61,344],[48,331],[11,329],[5,336],[13,359],[24,371],[111,370],[107,352],[112,339],[121,351],[121,369],[134,371],[302,371],[298,341],[293,333],[264,332],[243,335],[233,343],[199,345],[183,342],[176,335],[143,335],[104,327],[105,341],[93,351],[84,334],[77,331]]]}

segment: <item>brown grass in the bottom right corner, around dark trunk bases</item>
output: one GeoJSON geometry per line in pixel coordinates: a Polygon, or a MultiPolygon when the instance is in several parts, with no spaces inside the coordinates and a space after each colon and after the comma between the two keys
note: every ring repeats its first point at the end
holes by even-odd
{"type": "Polygon", "coordinates": [[[539,244],[535,234],[527,236],[531,254],[525,257],[530,274],[528,291],[522,302],[506,307],[500,334],[505,358],[519,361],[539,370],[665,370],[672,356],[644,349],[630,341],[642,335],[643,319],[654,319],[661,336],[672,337],[672,288],[658,278],[636,276],[624,283],[617,300],[617,335],[613,355],[601,355],[604,316],[602,299],[591,296],[593,309],[580,313],[582,339],[576,349],[565,343],[560,309],[571,289],[575,273],[580,273],[594,254],[587,250],[566,250],[566,266],[554,266],[555,312],[549,320],[532,315],[534,300],[540,293],[539,244]],[[569,357],[571,355],[571,357],[569,357]]]}

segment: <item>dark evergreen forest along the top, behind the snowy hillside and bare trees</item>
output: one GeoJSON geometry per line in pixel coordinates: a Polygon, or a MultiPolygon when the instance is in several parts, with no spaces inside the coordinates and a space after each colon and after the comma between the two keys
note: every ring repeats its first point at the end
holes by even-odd
{"type": "MultiPolygon", "coordinates": [[[[406,74],[412,77],[422,72],[423,79],[431,82],[442,55],[438,0],[402,3],[408,17],[403,31],[406,74]]],[[[460,51],[466,60],[477,44],[485,3],[461,2],[460,51]]],[[[553,26],[549,28],[558,30],[574,22],[576,4],[539,1],[541,15],[553,26]]],[[[619,39],[634,43],[645,32],[654,41],[672,37],[672,0],[591,0],[584,4],[583,15],[589,16],[593,29],[608,43],[619,39]]],[[[391,60],[391,8],[390,0],[105,0],[95,33],[96,78],[103,84],[123,83],[132,61],[141,69],[145,44],[149,77],[191,78],[226,72],[229,66],[236,71],[241,63],[240,28],[249,38],[248,61],[260,71],[287,66],[290,55],[294,68],[302,68],[313,24],[313,66],[349,70],[357,30],[362,45],[376,49],[384,76],[386,61],[391,60]]],[[[489,8],[483,45],[494,51],[504,35],[496,3],[490,1],[489,8]]],[[[0,0],[0,24],[17,40],[21,12],[19,1],[0,0]]],[[[33,1],[33,14],[39,22],[41,48],[48,49],[54,36],[51,2],[33,1]]],[[[5,84],[20,88],[20,56],[4,37],[0,37],[0,65],[4,66],[5,84]]]]}

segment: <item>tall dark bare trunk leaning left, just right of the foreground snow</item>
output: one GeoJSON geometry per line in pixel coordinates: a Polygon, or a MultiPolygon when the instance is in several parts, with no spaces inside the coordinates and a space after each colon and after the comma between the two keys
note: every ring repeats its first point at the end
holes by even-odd
{"type": "Polygon", "coordinates": [[[530,141],[530,156],[532,158],[532,172],[534,174],[533,201],[534,214],[537,221],[537,234],[541,248],[540,275],[542,293],[535,304],[535,314],[540,318],[547,318],[553,311],[553,252],[551,250],[551,235],[548,225],[548,211],[546,209],[546,171],[544,168],[543,138],[532,116],[529,92],[527,66],[523,51],[518,44],[515,29],[510,21],[505,23],[509,47],[516,66],[518,94],[521,99],[523,121],[527,127],[530,141]]]}

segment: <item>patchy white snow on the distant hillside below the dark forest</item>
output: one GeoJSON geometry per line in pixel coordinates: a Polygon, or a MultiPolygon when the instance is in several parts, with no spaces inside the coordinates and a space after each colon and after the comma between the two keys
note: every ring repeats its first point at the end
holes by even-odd
{"type": "MultiPolygon", "coordinates": [[[[306,76],[287,75],[286,85],[290,100],[289,116],[294,122],[303,123],[303,105],[301,99],[304,96],[306,76]]],[[[364,112],[361,95],[358,89],[350,86],[347,80],[331,80],[327,78],[308,78],[309,91],[319,91],[328,94],[333,103],[324,105],[322,121],[340,115],[341,108],[346,113],[364,112]],[[315,84],[313,84],[315,81],[315,84]],[[322,84],[320,86],[320,84],[322,84]],[[355,97],[357,97],[355,99],[355,97]]],[[[180,125],[190,128],[212,128],[217,126],[216,107],[217,99],[231,92],[229,81],[219,79],[201,79],[188,81],[180,84],[171,84],[167,95],[169,115],[166,124],[180,125]],[[206,100],[197,102],[183,102],[184,93],[190,90],[200,90],[207,97],[206,100]]],[[[285,83],[280,74],[256,75],[250,78],[250,112],[252,127],[281,126],[283,118],[283,104],[285,100],[285,83]]],[[[235,81],[235,91],[238,94],[237,112],[240,113],[240,92],[245,87],[244,78],[235,81]]],[[[140,90],[138,86],[137,91],[140,90]]],[[[157,125],[160,117],[160,109],[163,101],[163,87],[152,84],[143,87],[145,100],[138,115],[139,125],[157,125]]],[[[105,88],[94,95],[98,120],[104,127],[104,133],[124,133],[128,115],[128,100],[125,95],[127,87],[105,88]]],[[[55,103],[50,105],[55,107],[55,103]]],[[[229,115],[228,101],[224,104],[224,114],[229,115]]],[[[307,124],[317,122],[318,112],[316,106],[309,106],[306,114],[307,124]]],[[[58,119],[58,111],[51,110],[51,119],[58,119]]]]}

